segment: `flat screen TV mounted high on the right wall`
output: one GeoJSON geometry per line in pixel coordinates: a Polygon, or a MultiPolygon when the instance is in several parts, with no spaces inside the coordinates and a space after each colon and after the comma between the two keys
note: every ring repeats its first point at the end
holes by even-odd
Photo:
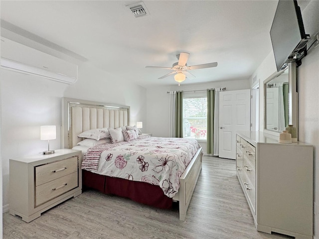
{"type": "Polygon", "coordinates": [[[279,0],[270,30],[277,71],[286,63],[297,62],[307,55],[310,35],[305,33],[297,0],[279,0]]]}

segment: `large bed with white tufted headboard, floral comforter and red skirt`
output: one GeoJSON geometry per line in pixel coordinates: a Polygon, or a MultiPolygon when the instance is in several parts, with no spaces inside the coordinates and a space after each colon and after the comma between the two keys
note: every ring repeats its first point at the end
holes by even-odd
{"type": "MultiPolygon", "coordinates": [[[[82,158],[80,162],[82,163],[82,159],[84,158],[83,164],[84,168],[81,172],[80,177],[82,177],[82,185],[83,188],[93,188],[96,190],[99,190],[106,194],[115,194],[122,197],[128,197],[131,198],[134,201],[151,205],[157,208],[169,208],[172,205],[173,201],[178,202],[179,207],[179,220],[184,221],[186,218],[186,212],[187,208],[192,196],[192,193],[194,191],[200,170],[201,170],[201,158],[202,158],[202,148],[199,146],[196,148],[196,150],[188,149],[189,151],[192,151],[192,157],[189,160],[186,160],[185,157],[183,157],[183,154],[181,157],[179,157],[180,161],[182,162],[177,166],[178,168],[183,168],[184,171],[178,175],[179,182],[177,190],[175,190],[174,185],[170,185],[169,190],[163,190],[163,187],[159,186],[159,182],[153,183],[152,180],[132,180],[133,177],[137,178],[138,176],[132,174],[128,174],[127,178],[122,177],[120,175],[117,175],[114,173],[113,169],[108,169],[106,171],[112,172],[108,175],[102,172],[100,168],[107,167],[107,166],[101,166],[95,164],[95,168],[90,168],[85,166],[85,162],[87,162],[87,150],[93,150],[91,147],[83,146],[83,145],[77,145],[80,141],[82,141],[83,138],[79,138],[78,135],[86,130],[90,129],[96,129],[96,128],[105,128],[105,127],[111,127],[111,128],[118,128],[123,127],[125,125],[130,125],[130,107],[128,106],[122,106],[122,105],[115,105],[115,104],[106,104],[106,103],[100,103],[100,102],[92,102],[92,101],[84,101],[79,99],[71,99],[71,98],[62,98],[62,145],[65,148],[74,148],[82,151],[82,158]],[[184,166],[183,166],[184,165],[184,166]],[[166,194],[166,195],[165,195],[166,194]]],[[[183,147],[183,140],[182,138],[166,138],[165,140],[167,143],[175,144],[176,142],[171,141],[176,139],[181,140],[178,141],[178,143],[181,144],[181,148],[183,147]]],[[[112,154],[114,155],[114,158],[118,157],[116,156],[116,153],[119,153],[118,150],[125,151],[128,147],[133,147],[135,144],[140,145],[140,147],[148,146],[147,148],[152,149],[152,145],[157,143],[157,140],[160,140],[160,138],[157,137],[150,137],[150,136],[144,136],[139,137],[138,139],[134,139],[130,142],[123,142],[119,143],[117,147],[108,148],[108,143],[102,144],[103,147],[107,147],[108,150],[113,151],[103,151],[101,150],[101,153],[105,152],[105,155],[102,158],[105,158],[103,161],[104,163],[107,163],[108,155],[112,154]],[[111,152],[111,153],[110,153],[111,152]]],[[[186,140],[187,141],[187,140],[186,140]]],[[[158,145],[162,145],[163,142],[158,142],[158,145]]],[[[96,146],[96,148],[99,148],[100,146],[96,146]]],[[[156,147],[156,146],[155,146],[156,147]]],[[[172,146],[174,147],[174,146],[172,146]]],[[[188,146],[189,147],[189,146],[188,146]]],[[[93,147],[94,148],[94,147],[93,147]]],[[[190,148],[190,147],[189,147],[190,148]]],[[[145,167],[146,159],[148,158],[148,162],[151,163],[150,158],[150,152],[146,153],[144,156],[140,154],[141,152],[132,152],[131,148],[131,154],[134,155],[137,153],[137,163],[138,167],[141,169],[133,170],[136,171],[147,171],[147,168],[145,167]],[[142,157],[140,157],[142,156],[142,157]],[[146,157],[146,158],[144,158],[146,157]],[[142,160],[141,160],[142,158],[142,160]],[[144,161],[145,159],[145,161],[144,161]]],[[[166,150],[166,149],[165,149],[166,150]]],[[[173,149],[170,149],[173,150],[173,149]]],[[[175,149],[174,149],[175,150],[175,149]]],[[[179,150],[179,149],[178,149],[179,150]]],[[[144,150],[142,150],[144,151],[144,150]]],[[[152,153],[154,153],[153,150],[152,153]]],[[[95,151],[94,151],[95,152],[95,151]]],[[[165,151],[167,155],[170,155],[169,152],[165,151]]],[[[101,155],[102,155],[101,154],[101,155]]],[[[178,155],[178,153],[174,153],[178,155]]],[[[153,158],[156,158],[155,155],[152,155],[153,158]]],[[[100,157],[100,155],[99,155],[100,157]]],[[[160,157],[160,156],[159,156],[160,157]]],[[[121,158],[121,162],[125,162],[123,158],[121,158]]],[[[177,160],[178,161],[178,160],[177,160]]],[[[119,161],[120,162],[120,159],[119,161]]],[[[98,161],[98,164],[101,164],[102,160],[98,161]]],[[[125,162],[126,164],[126,162],[125,162]]],[[[118,168],[121,167],[122,164],[118,163],[118,168]],[[119,166],[120,165],[120,166],[119,166]]],[[[177,165],[177,164],[176,164],[177,165]]],[[[151,165],[147,165],[150,166],[151,165]]],[[[122,166],[123,167],[123,166],[122,166]]],[[[129,167],[129,166],[128,166],[129,167]]],[[[127,168],[128,168],[127,167],[127,168]]],[[[130,166],[131,167],[131,166],[130,166]]],[[[133,164],[132,164],[133,168],[133,164]]],[[[155,168],[153,166],[153,168],[155,168]]],[[[151,170],[150,170],[151,171],[151,170]]],[[[160,170],[155,170],[160,171],[160,170]]],[[[182,170],[181,170],[182,171],[182,170]]],[[[176,170],[177,172],[177,170],[176,170]]],[[[140,172],[141,173],[141,172],[140,172]]],[[[153,170],[154,173],[154,170],[153,170]]],[[[159,176],[158,178],[162,178],[164,176],[159,176]]],[[[163,183],[165,179],[161,181],[163,183]]],[[[172,180],[173,181],[173,180],[172,180]]],[[[167,180],[165,181],[167,184],[167,180]]]]}

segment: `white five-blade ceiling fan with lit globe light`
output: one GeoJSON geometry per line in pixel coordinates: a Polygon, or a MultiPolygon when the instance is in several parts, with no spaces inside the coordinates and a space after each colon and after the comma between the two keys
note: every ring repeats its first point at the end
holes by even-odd
{"type": "Polygon", "coordinates": [[[180,82],[183,82],[187,78],[195,78],[193,74],[188,72],[188,70],[196,70],[196,69],[203,69],[203,68],[210,68],[210,67],[216,67],[217,62],[213,63],[206,63],[206,64],[200,64],[200,65],[194,65],[194,66],[187,66],[186,62],[189,57],[189,53],[186,52],[180,52],[176,55],[178,62],[175,62],[172,67],[161,67],[161,66],[146,66],[146,68],[161,68],[161,69],[168,69],[172,70],[172,72],[160,77],[159,79],[163,79],[167,76],[173,75],[175,81],[178,82],[178,85],[180,82]]]}

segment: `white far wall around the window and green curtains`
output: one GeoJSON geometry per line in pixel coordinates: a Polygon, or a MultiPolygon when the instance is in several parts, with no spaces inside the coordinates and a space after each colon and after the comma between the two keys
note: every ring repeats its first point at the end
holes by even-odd
{"type": "MultiPolygon", "coordinates": [[[[169,94],[167,91],[196,91],[217,87],[226,87],[227,91],[250,89],[248,80],[210,82],[203,84],[181,84],[169,87],[156,87],[147,89],[147,121],[148,126],[144,132],[153,136],[169,136],[169,94]]],[[[143,125],[144,126],[144,125],[143,125]]],[[[206,142],[200,142],[206,152],[206,142]]]]}

